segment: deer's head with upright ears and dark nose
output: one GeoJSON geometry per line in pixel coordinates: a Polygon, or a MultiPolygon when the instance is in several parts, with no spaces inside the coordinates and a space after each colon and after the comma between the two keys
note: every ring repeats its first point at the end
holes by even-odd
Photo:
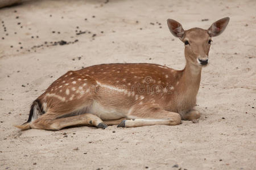
{"type": "Polygon", "coordinates": [[[176,20],[167,20],[172,35],[179,37],[184,42],[187,63],[198,67],[206,66],[209,63],[208,54],[212,37],[220,35],[228,23],[229,17],[226,17],[217,20],[208,29],[191,28],[184,31],[182,25],[176,20]]]}

